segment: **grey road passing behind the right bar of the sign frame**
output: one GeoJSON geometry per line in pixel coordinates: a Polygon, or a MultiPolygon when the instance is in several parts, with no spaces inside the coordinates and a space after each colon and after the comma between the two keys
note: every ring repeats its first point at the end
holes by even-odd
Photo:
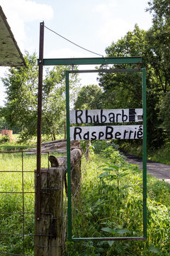
{"type": "MultiPolygon", "coordinates": [[[[127,154],[123,152],[126,156],[126,161],[130,162],[130,164],[137,164],[142,169],[142,159],[137,156],[133,156],[131,154],[127,154]]],[[[159,178],[160,180],[166,181],[170,184],[170,166],[166,164],[159,164],[153,161],[147,161],[147,172],[152,174],[154,177],[159,178]]]]}

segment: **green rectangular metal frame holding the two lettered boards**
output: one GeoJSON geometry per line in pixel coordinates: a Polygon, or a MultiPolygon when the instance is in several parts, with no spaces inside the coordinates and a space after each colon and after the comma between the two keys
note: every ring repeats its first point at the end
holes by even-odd
{"type": "MultiPolygon", "coordinates": [[[[101,58],[99,58],[99,59],[101,59],[101,58]]],[[[115,59],[118,59],[118,58],[115,58],[115,59]]],[[[122,62],[119,62],[119,63],[129,63],[128,61],[129,61],[129,58],[127,58],[127,59],[126,58],[122,58],[122,62]]],[[[81,64],[84,64],[84,62],[85,62],[85,60],[82,59],[82,63],[81,64]]],[[[70,64],[70,62],[68,64],[70,64]]],[[[135,70],[133,70],[133,69],[131,69],[131,70],[130,69],[128,69],[128,70],[67,70],[65,74],[66,74],[66,110],[67,110],[68,240],[69,241],[74,241],[74,240],[146,240],[147,239],[147,109],[146,109],[146,70],[145,70],[145,68],[142,68],[142,70],[137,70],[137,69],[135,69],[135,70]],[[143,107],[143,237],[72,238],[72,193],[71,193],[70,132],[69,132],[69,73],[141,72],[141,71],[142,71],[142,107],[143,107]]]]}

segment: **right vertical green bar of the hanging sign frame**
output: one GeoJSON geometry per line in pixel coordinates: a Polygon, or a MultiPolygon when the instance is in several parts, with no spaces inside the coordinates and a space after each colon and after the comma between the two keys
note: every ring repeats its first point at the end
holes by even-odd
{"type": "Polygon", "coordinates": [[[143,236],[147,239],[147,99],[146,69],[142,68],[143,97],[143,236]]]}

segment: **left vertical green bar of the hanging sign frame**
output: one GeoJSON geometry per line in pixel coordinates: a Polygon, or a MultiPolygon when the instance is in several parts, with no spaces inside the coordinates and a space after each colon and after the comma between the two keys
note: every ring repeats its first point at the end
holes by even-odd
{"type": "Polygon", "coordinates": [[[72,241],[72,193],[69,134],[69,71],[66,70],[66,114],[67,114],[67,196],[68,196],[68,239],[72,241]]]}

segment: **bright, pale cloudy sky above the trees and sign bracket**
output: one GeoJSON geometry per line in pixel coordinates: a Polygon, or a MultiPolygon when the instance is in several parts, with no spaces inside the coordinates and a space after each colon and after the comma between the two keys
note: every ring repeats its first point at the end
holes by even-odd
{"type": "MultiPolygon", "coordinates": [[[[42,21],[70,41],[104,56],[106,47],[132,31],[135,23],[145,30],[152,26],[152,16],[145,11],[147,0],[0,0],[0,5],[21,52],[27,50],[37,56],[42,21]]],[[[44,58],[100,57],[64,41],[47,28],[44,58]]],[[[0,67],[0,77],[5,73],[6,68],[0,67]]],[[[94,73],[80,78],[82,85],[97,84],[94,73]]],[[[0,90],[3,106],[6,94],[2,82],[0,90]]]]}

